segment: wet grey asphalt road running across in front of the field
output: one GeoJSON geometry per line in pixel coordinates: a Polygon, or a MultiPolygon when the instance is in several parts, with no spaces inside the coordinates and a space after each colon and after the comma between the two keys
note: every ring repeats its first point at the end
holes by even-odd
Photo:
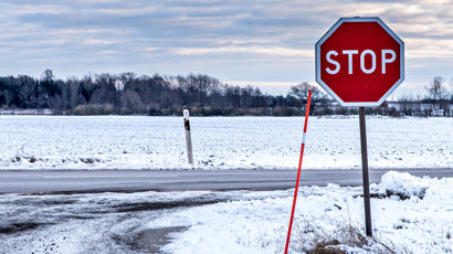
{"type": "MultiPolygon", "coordinates": [[[[453,169],[391,169],[422,177],[453,177],[453,169]]],[[[370,169],[370,182],[388,170],[370,169]]],[[[186,190],[283,190],[296,170],[0,170],[0,193],[95,193],[186,190]]],[[[301,184],[360,186],[361,170],[304,170],[301,184]]]]}

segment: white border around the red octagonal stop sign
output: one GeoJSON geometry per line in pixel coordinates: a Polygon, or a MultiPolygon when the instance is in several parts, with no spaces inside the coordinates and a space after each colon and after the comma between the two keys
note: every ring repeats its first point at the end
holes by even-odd
{"type": "Polygon", "coordinates": [[[334,27],[331,27],[326,34],[324,34],[319,41],[315,44],[316,52],[316,82],[323,86],[327,93],[333,96],[341,106],[345,107],[372,107],[380,106],[387,97],[404,81],[404,42],[393,32],[387,24],[382,22],[378,17],[357,17],[357,18],[340,18],[334,27]],[[378,22],[399,44],[400,44],[400,80],[398,80],[392,87],[378,100],[378,102],[354,102],[345,103],[334,91],[328,87],[326,83],[320,80],[320,45],[338,29],[338,27],[345,22],[378,22]]]}

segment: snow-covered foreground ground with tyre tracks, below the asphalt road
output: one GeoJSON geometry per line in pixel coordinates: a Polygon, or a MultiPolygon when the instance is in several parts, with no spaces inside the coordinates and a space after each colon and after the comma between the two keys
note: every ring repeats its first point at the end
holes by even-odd
{"type": "MultiPolygon", "coordinates": [[[[388,172],[371,186],[381,195],[371,199],[375,235],[400,253],[452,253],[452,178],[388,172]]],[[[339,237],[347,225],[364,233],[361,191],[302,187],[292,253],[310,248],[314,237],[339,237]]],[[[292,197],[292,190],[0,195],[0,253],[283,253],[292,197]]]]}

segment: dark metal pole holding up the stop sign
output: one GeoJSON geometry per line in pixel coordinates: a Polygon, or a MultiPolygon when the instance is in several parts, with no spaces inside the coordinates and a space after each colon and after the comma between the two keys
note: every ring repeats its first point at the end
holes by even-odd
{"type": "Polygon", "coordinates": [[[360,146],[361,146],[361,169],[364,177],[364,201],[365,201],[365,229],[367,235],[372,237],[371,209],[370,209],[370,181],[368,176],[368,151],[367,151],[367,126],[365,124],[365,107],[359,108],[360,119],[360,146]]]}

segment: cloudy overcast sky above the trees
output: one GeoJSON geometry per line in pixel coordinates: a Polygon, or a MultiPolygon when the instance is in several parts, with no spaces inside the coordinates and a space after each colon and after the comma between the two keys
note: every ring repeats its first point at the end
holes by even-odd
{"type": "Polygon", "coordinates": [[[405,43],[405,81],[452,91],[453,0],[3,0],[0,75],[203,73],[273,94],[315,83],[315,43],[341,17],[380,17],[405,43]]]}

